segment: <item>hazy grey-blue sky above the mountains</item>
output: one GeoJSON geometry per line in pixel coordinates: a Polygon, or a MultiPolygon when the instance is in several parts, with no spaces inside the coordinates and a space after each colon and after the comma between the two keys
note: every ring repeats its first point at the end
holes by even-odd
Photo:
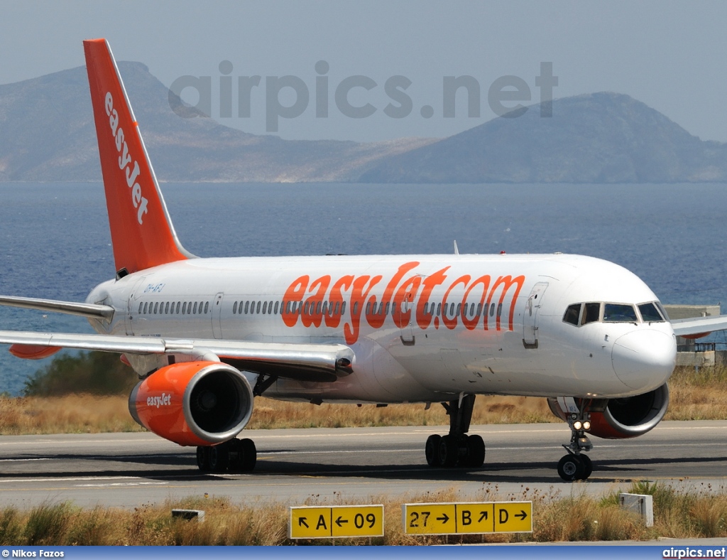
{"type": "MultiPolygon", "coordinates": [[[[555,97],[625,93],[702,140],[725,142],[726,26],[723,1],[0,0],[0,84],[83,65],[81,40],[105,37],[118,60],[145,63],[167,87],[181,76],[209,76],[212,116],[222,124],[265,134],[270,115],[284,113],[270,97],[277,84],[278,103],[300,113],[273,119],[281,137],[390,140],[443,137],[491,119],[488,92],[500,76],[518,76],[536,103],[540,64],[550,62],[555,97]],[[316,70],[321,84],[327,80],[321,95],[316,70]],[[222,72],[232,89],[221,102],[222,72]],[[260,76],[250,89],[249,118],[238,117],[245,101],[238,76],[260,76]],[[296,76],[308,103],[273,76],[296,76]],[[345,82],[350,76],[366,80],[345,82]],[[406,80],[394,79],[398,94],[387,95],[392,76],[406,80]],[[473,76],[480,116],[467,116],[464,89],[456,116],[443,116],[444,76],[473,76]],[[345,84],[356,86],[348,106],[367,107],[370,116],[340,109],[335,97],[345,84]],[[220,118],[225,103],[232,116],[220,118]],[[390,116],[387,105],[406,116],[390,116]],[[328,116],[316,116],[324,108],[328,116]]],[[[195,89],[183,97],[198,101],[195,89]]]]}

